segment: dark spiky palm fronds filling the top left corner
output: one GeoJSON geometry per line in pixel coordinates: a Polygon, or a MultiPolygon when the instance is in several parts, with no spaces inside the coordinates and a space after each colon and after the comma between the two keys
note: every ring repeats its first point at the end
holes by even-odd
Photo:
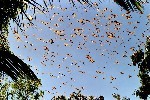
{"type": "MultiPolygon", "coordinates": [[[[0,0],[0,31],[7,27],[10,19],[19,22],[20,18],[17,17],[19,13],[25,15],[28,19],[28,16],[25,13],[28,5],[32,5],[42,12],[45,9],[42,5],[38,4],[36,0],[0,0]]],[[[17,25],[19,24],[17,23],[17,25]]]]}

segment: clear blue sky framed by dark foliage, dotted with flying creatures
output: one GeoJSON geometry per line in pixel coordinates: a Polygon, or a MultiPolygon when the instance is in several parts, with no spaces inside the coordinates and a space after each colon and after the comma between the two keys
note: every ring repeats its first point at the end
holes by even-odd
{"type": "MultiPolygon", "coordinates": [[[[41,79],[44,99],[80,89],[106,100],[113,100],[113,93],[137,100],[132,94],[140,86],[138,68],[130,56],[138,45],[144,49],[150,35],[150,4],[144,4],[144,14],[126,14],[110,0],[93,7],[73,7],[66,0],[53,4],[45,14],[36,10],[34,26],[22,20],[24,32],[13,34],[12,22],[8,37],[11,51],[41,79]]],[[[34,18],[31,8],[27,12],[34,18]]]]}

